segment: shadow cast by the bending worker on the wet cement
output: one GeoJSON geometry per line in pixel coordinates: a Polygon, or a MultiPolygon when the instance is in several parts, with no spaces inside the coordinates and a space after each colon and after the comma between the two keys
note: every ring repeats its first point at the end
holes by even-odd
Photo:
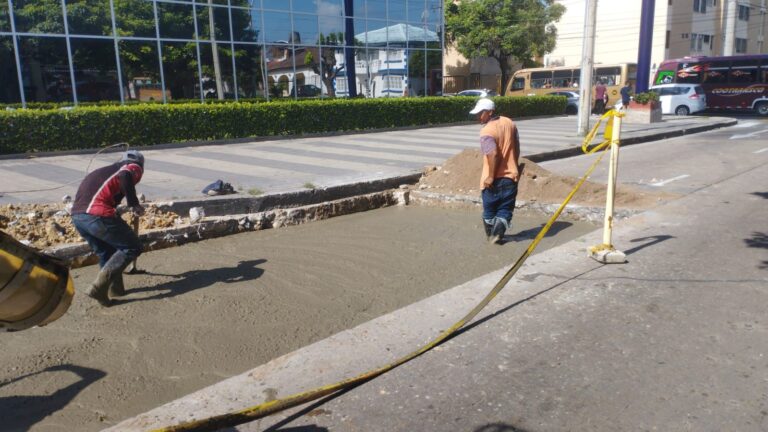
{"type": "Polygon", "coordinates": [[[128,295],[136,293],[157,292],[155,295],[141,298],[124,298],[114,300],[115,305],[127,304],[145,300],[159,300],[176,297],[201,288],[206,288],[216,283],[236,283],[258,279],[264,274],[264,269],[258,266],[267,262],[265,259],[240,261],[234,267],[220,267],[208,270],[190,270],[179,275],[174,275],[176,280],[160,285],[135,288],[128,290],[128,295]]]}

